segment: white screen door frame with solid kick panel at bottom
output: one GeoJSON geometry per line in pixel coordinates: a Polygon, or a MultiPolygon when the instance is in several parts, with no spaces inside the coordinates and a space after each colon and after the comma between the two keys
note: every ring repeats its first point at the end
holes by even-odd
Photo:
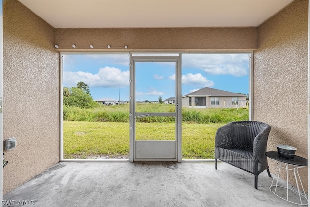
{"type": "Polygon", "coordinates": [[[130,161],[181,161],[181,54],[178,55],[133,55],[130,54],[130,161]],[[174,62],[175,63],[175,113],[136,113],[135,104],[135,63],[136,62],[174,62]],[[139,140],[135,139],[135,119],[141,116],[175,116],[175,140],[139,140]],[[154,149],[158,150],[154,150],[154,149]],[[146,149],[146,150],[145,150],[146,149]],[[164,154],[167,157],[157,157],[164,154]],[[138,155],[141,155],[138,156],[138,155]],[[148,157],[149,156],[149,157],[148,157]]]}

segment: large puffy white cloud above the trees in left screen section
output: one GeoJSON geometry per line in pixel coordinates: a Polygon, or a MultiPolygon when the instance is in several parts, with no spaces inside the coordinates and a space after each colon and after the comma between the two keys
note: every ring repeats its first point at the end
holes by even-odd
{"type": "Polygon", "coordinates": [[[122,71],[115,67],[100,68],[97,74],[89,72],[63,72],[64,84],[76,86],[79,81],[89,87],[126,87],[129,86],[129,70],[122,71]]]}

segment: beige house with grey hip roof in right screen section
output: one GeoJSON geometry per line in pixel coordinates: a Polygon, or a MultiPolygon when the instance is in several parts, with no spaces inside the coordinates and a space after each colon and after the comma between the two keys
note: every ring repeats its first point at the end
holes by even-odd
{"type": "Polygon", "coordinates": [[[202,88],[182,96],[182,106],[187,108],[239,108],[247,107],[247,95],[202,88]]]}

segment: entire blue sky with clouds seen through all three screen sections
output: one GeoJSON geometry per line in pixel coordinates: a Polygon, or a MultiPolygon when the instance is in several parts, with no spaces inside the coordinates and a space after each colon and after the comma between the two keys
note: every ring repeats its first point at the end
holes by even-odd
{"type": "MultiPolygon", "coordinates": [[[[182,95],[211,87],[248,94],[248,54],[182,54],[182,95]]],[[[65,54],[63,86],[88,84],[94,100],[129,100],[129,54],[65,54]]],[[[174,63],[137,63],[136,100],[175,97],[174,63]]]]}

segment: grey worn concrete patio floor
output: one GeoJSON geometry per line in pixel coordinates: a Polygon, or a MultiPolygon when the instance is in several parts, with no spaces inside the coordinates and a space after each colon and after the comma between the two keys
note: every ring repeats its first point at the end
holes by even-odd
{"type": "Polygon", "coordinates": [[[254,175],[223,162],[217,170],[213,162],[61,162],[3,199],[34,207],[297,206],[274,195],[271,182],[264,171],[255,189],[254,175]]]}

